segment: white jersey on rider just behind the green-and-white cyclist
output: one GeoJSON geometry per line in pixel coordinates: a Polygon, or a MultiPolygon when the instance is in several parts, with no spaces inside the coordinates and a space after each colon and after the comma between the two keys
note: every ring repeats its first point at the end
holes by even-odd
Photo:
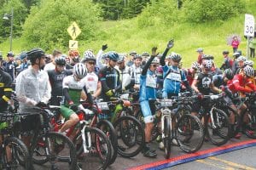
{"type": "Polygon", "coordinates": [[[84,77],[86,88],[90,94],[95,94],[96,89],[98,87],[99,77],[96,75],[95,72],[88,72],[86,77],[84,77]]]}

